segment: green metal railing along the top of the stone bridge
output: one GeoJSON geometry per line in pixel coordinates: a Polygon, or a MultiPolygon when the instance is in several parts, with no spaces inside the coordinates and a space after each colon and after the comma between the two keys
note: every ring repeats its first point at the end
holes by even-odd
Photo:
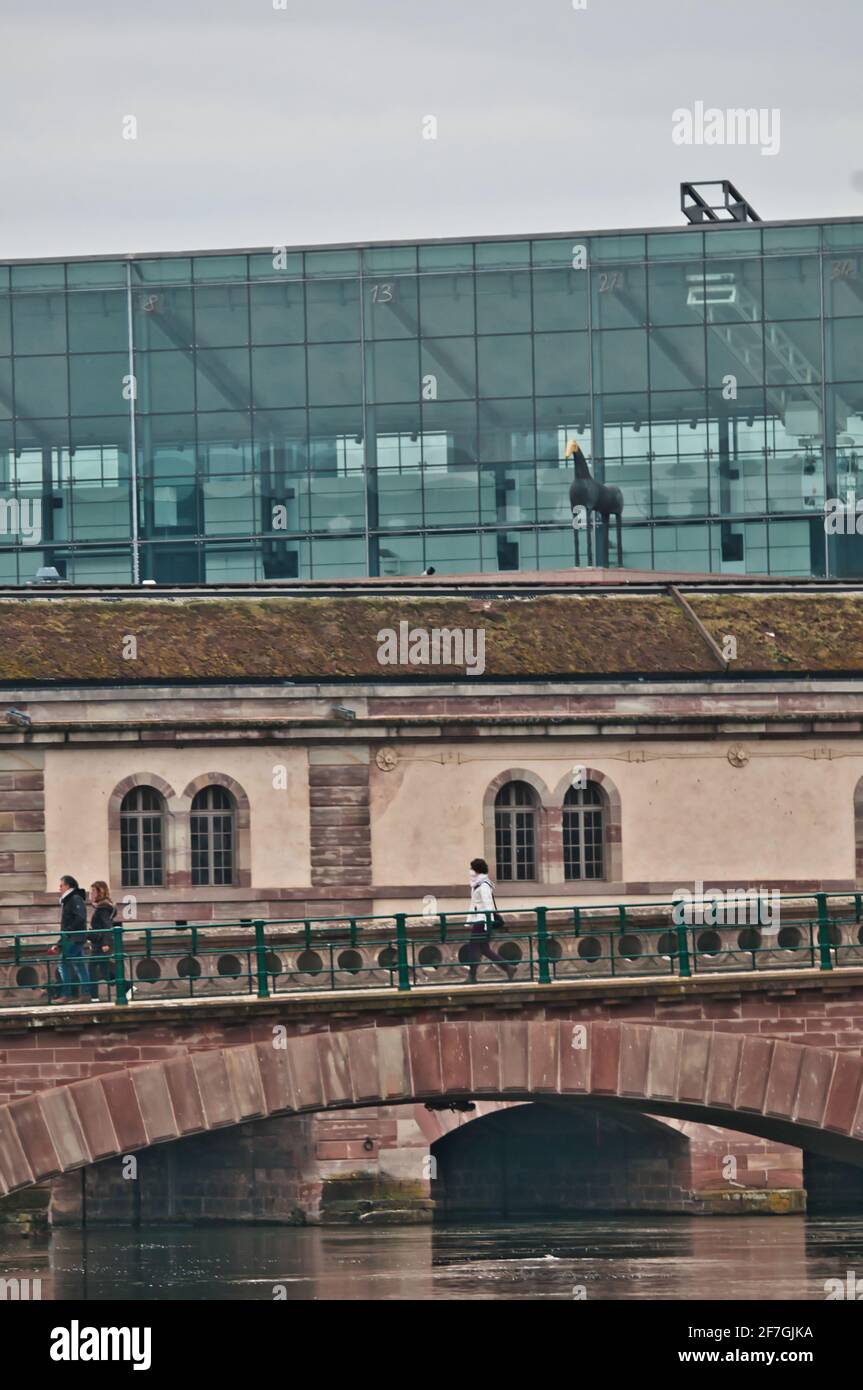
{"type": "MultiPolygon", "coordinates": [[[[488,926],[491,929],[491,913],[488,926]]],[[[81,956],[57,933],[0,935],[0,1006],[32,1008],[90,997],[125,1005],[136,999],[250,994],[332,992],[378,987],[400,992],[470,980],[503,983],[492,962],[477,958],[488,941],[517,983],[678,977],[863,966],[859,894],[787,894],[780,922],[685,922],[680,903],[580,903],[507,910],[504,927],[478,938],[464,912],[434,916],[270,919],[160,926],[115,926],[107,954],[81,956]],[[675,910],[677,909],[677,910],[675,910]],[[53,948],[53,949],[51,949],[53,948]],[[63,980],[58,966],[64,967],[63,980]],[[204,969],[204,966],[208,966],[204,969]]]]}

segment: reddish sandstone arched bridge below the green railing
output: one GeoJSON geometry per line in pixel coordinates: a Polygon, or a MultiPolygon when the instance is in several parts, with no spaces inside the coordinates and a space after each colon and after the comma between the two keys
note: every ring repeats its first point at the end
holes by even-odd
{"type": "Polygon", "coordinates": [[[268,1116],[464,1098],[863,1166],[863,970],[0,1011],[0,1194],[268,1116]]]}

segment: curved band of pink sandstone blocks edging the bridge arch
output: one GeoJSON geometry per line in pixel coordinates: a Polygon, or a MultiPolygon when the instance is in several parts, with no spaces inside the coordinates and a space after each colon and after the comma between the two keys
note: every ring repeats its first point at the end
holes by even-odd
{"type": "Polygon", "coordinates": [[[271,1115],[443,1097],[602,1099],[863,1166],[863,1059],[648,1023],[352,1026],[179,1055],[0,1106],[0,1195],[106,1158],[271,1115]],[[283,1045],[281,1045],[283,1042],[283,1045]]]}

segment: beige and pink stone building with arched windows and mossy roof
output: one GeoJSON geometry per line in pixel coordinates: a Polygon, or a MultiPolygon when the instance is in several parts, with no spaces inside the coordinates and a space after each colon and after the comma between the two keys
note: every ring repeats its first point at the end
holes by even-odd
{"type": "MultiPolygon", "coordinates": [[[[63,873],[107,880],[129,930],[229,923],[235,938],[260,917],[350,917],[361,934],[374,915],[459,912],[475,855],[504,915],[660,903],[698,883],[860,891],[862,671],[853,582],[6,591],[1,983],[22,983],[15,933],[56,930],[63,873]]],[[[281,1188],[281,1219],[320,1215],[328,1182],[357,1173],[356,1201],[395,1183],[427,1207],[421,1113],[303,1125],[306,1177],[281,1188]]],[[[716,1136],[689,1140],[693,1170],[713,1173],[716,1136]]],[[[625,1140],[632,1162],[643,1143],[625,1140]]],[[[777,1148],[748,1143],[749,1186],[777,1186],[773,1166],[800,1187],[799,1152],[777,1148]]]]}

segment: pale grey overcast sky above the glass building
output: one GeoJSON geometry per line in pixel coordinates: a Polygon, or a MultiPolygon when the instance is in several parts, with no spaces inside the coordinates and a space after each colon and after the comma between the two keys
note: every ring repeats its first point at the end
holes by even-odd
{"type": "Polygon", "coordinates": [[[0,257],[863,215],[862,0],[281,3],[0,0],[0,257]],[[778,153],[675,145],[696,101],[778,153]]]}

